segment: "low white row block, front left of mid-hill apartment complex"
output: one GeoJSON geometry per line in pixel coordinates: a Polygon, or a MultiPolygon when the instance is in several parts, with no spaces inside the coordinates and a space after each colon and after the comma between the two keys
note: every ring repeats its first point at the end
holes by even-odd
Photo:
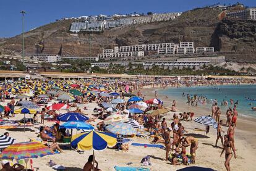
{"type": "Polygon", "coordinates": [[[116,57],[141,57],[144,56],[143,51],[138,52],[109,52],[109,53],[103,53],[98,54],[99,59],[111,59],[116,57]]]}

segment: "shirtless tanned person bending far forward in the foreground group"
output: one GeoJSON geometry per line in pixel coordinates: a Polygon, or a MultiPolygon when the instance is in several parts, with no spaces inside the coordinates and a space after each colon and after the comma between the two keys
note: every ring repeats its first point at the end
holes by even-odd
{"type": "Polygon", "coordinates": [[[195,164],[195,151],[198,148],[198,140],[193,136],[187,136],[186,138],[181,139],[182,146],[190,146],[191,162],[195,164]]]}

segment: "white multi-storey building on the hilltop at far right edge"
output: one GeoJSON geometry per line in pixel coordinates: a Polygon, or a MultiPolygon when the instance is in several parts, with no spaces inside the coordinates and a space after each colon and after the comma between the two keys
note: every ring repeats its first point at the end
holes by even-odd
{"type": "Polygon", "coordinates": [[[226,12],[226,17],[238,18],[241,20],[256,20],[256,8],[226,12]]]}

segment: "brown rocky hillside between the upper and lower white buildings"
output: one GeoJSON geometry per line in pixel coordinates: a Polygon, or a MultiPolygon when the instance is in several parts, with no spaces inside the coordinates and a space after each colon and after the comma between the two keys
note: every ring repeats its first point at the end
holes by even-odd
{"type": "MultiPolygon", "coordinates": [[[[104,48],[142,43],[164,43],[194,41],[195,46],[214,46],[218,51],[237,51],[244,60],[255,60],[255,22],[239,20],[218,20],[220,10],[195,9],[182,13],[173,21],[131,25],[113,28],[100,34],[81,33],[78,36],[68,32],[72,20],[49,23],[25,33],[25,53],[35,54],[35,44],[43,41],[44,54],[57,54],[62,45],[62,55],[88,56],[89,38],[91,54],[96,56],[104,48]],[[249,50],[250,49],[250,50],[249,50]],[[254,50],[251,50],[254,49],[254,50]]],[[[0,52],[20,54],[21,35],[0,41],[0,52]]],[[[234,56],[229,59],[241,59],[234,56]]]]}

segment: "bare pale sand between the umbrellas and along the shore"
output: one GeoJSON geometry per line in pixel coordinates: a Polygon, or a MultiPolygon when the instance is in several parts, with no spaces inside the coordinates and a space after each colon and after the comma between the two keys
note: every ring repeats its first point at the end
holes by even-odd
{"type": "MultiPolygon", "coordinates": [[[[146,88],[141,90],[142,94],[146,95],[146,99],[153,98],[154,91],[160,88],[146,88]]],[[[134,92],[135,93],[135,92],[134,92]]],[[[171,102],[174,98],[169,96],[168,98],[164,96],[159,96],[160,99],[164,101],[164,106],[170,107],[171,102]]],[[[0,104],[6,105],[7,102],[1,102],[0,104]]],[[[88,110],[82,110],[85,114],[88,114],[88,117],[92,117],[93,109],[96,106],[95,102],[85,104],[88,110]]],[[[82,107],[81,107],[82,108],[82,107]]],[[[15,108],[16,109],[16,108],[15,108]]],[[[75,108],[74,108],[75,109],[75,108]]],[[[74,110],[74,109],[71,109],[74,110]]],[[[177,109],[180,112],[195,112],[195,117],[200,115],[208,115],[211,114],[210,109],[206,110],[203,107],[188,107],[186,102],[184,101],[177,101],[177,109]]],[[[65,111],[61,111],[64,113],[65,111]]],[[[171,125],[173,122],[171,119],[173,118],[174,112],[168,112],[165,114],[164,117],[168,121],[168,126],[171,125]]],[[[179,113],[179,112],[176,112],[179,113]]],[[[23,115],[18,114],[15,116],[15,120],[22,119],[23,115]]],[[[194,118],[195,118],[194,117],[194,118]]],[[[40,118],[40,117],[39,117],[40,118]]],[[[13,119],[13,118],[11,118],[13,119]]],[[[226,121],[223,117],[223,120],[226,121]]],[[[100,120],[96,120],[95,124],[100,120]]],[[[54,122],[47,122],[45,121],[45,125],[53,125],[54,122]]],[[[237,159],[234,157],[231,159],[231,169],[232,170],[256,170],[256,159],[255,159],[255,140],[256,140],[256,133],[255,133],[255,119],[241,119],[238,117],[237,121],[237,129],[235,133],[235,146],[237,148],[237,159]]],[[[196,123],[194,121],[185,122],[182,121],[182,125],[186,128],[188,133],[185,135],[192,135],[195,138],[198,138],[198,149],[197,149],[197,157],[196,157],[196,164],[200,167],[210,167],[215,170],[226,170],[224,168],[224,155],[220,157],[221,148],[214,148],[215,140],[216,140],[216,130],[212,127],[210,128],[210,132],[208,135],[204,135],[203,131],[194,131],[194,128],[202,128],[205,127],[196,123]]],[[[35,127],[39,127],[39,125],[35,125],[35,127]]],[[[32,130],[37,130],[34,127],[31,127],[32,130]]],[[[224,131],[226,132],[228,127],[224,127],[224,131]]],[[[20,129],[9,129],[4,130],[0,129],[0,135],[4,132],[8,131],[12,138],[15,138],[15,142],[22,142],[22,141],[29,141],[30,138],[36,138],[38,134],[35,131],[25,131],[23,132],[23,128],[20,129]]],[[[186,167],[185,165],[171,165],[170,162],[163,161],[165,156],[165,150],[160,148],[145,148],[145,147],[138,147],[132,146],[131,143],[150,143],[149,139],[146,138],[130,138],[129,144],[129,151],[116,151],[113,149],[105,149],[104,151],[95,151],[95,159],[99,163],[99,168],[101,170],[114,170],[114,166],[124,166],[127,167],[127,163],[131,163],[130,166],[132,167],[140,167],[140,161],[143,157],[149,155],[151,157],[151,166],[148,166],[150,170],[177,170],[186,167]]],[[[218,143],[221,146],[221,142],[218,143]]],[[[52,156],[45,156],[38,159],[33,159],[33,167],[39,167],[40,170],[53,170],[51,167],[48,166],[49,160],[53,160],[58,165],[63,165],[66,167],[66,170],[82,170],[83,165],[87,162],[88,156],[92,154],[93,151],[85,151],[83,154],[79,154],[74,150],[64,149],[64,153],[61,154],[54,154],[52,156]]]]}

